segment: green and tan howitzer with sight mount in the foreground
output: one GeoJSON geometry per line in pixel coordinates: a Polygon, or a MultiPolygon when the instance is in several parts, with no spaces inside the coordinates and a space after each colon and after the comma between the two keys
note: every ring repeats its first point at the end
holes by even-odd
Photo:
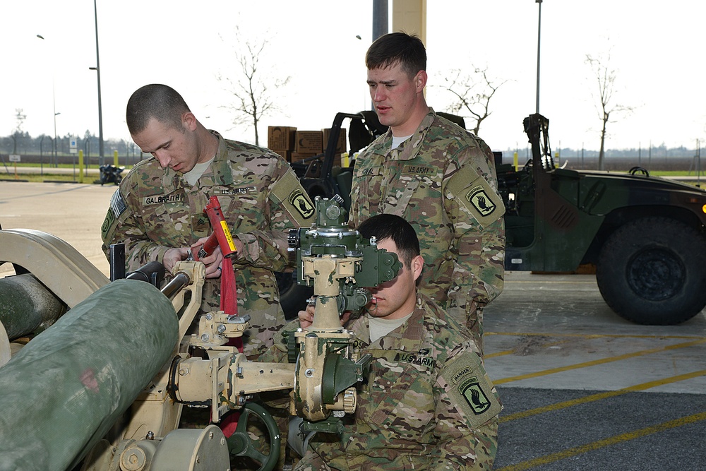
{"type": "MultiPolygon", "coordinates": [[[[78,270],[68,278],[87,297],[61,316],[69,305],[57,294],[58,320],[39,335],[27,335],[24,328],[19,335],[31,340],[0,367],[0,469],[225,470],[231,455],[246,455],[270,470],[277,462],[279,431],[251,400],[268,390],[294,390],[290,410],[305,419],[306,430],[337,431],[340,417],[354,410],[354,385],[366,364],[339,316],[369,299],[358,280],[368,286],[390,280],[399,262],[347,229],[337,202],[317,205],[323,214],[318,226],[292,236],[299,241],[301,282],[313,283],[319,297],[315,325],[294,335],[294,362],[249,362],[226,345],[248,328],[247,316],[222,311],[198,316],[201,262],[177,263],[162,290],[136,280],[107,283],[101,275],[91,294],[93,272],[78,270]],[[241,410],[237,430],[226,439],[214,425],[179,429],[184,406],[209,407],[213,423],[241,410]],[[251,417],[268,429],[269,455],[249,438],[251,417]]],[[[28,246],[48,239],[54,250],[65,249],[49,234],[0,231],[0,242],[7,237],[24,238],[28,246]]],[[[19,265],[4,249],[0,244],[0,261],[19,265]]],[[[28,301],[20,304],[19,311],[36,309],[28,301]]]]}

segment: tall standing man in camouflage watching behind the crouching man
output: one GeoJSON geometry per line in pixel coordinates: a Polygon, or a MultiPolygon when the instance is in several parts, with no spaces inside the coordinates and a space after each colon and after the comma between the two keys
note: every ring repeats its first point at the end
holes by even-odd
{"type": "Polygon", "coordinates": [[[480,342],[482,308],[503,290],[505,272],[505,208],[493,153],[426,105],[418,37],[379,38],[366,66],[378,119],[389,129],[357,158],[349,224],[381,213],[411,222],[426,260],[420,292],[480,342]]]}

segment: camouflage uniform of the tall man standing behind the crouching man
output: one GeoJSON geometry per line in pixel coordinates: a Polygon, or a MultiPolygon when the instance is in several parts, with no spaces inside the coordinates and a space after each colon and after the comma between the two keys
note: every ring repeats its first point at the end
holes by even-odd
{"type": "Polygon", "coordinates": [[[356,161],[349,224],[404,217],[426,261],[419,291],[482,335],[482,307],[503,290],[505,207],[493,153],[480,138],[430,109],[396,149],[392,133],[356,161]]]}

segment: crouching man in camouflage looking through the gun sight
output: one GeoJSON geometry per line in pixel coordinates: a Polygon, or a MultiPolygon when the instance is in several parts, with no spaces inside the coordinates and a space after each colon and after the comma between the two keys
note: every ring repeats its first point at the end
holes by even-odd
{"type": "MultiPolygon", "coordinates": [[[[401,217],[378,215],[359,227],[395,252],[397,278],[371,290],[366,314],[346,328],[372,355],[354,417],[342,434],[316,434],[295,470],[490,470],[502,405],[486,375],[472,333],[417,293],[424,259],[414,229],[401,217]]],[[[302,328],[313,310],[301,311],[302,328]]],[[[285,327],[294,330],[296,321],[285,327]]],[[[275,338],[261,361],[287,356],[275,338]]]]}

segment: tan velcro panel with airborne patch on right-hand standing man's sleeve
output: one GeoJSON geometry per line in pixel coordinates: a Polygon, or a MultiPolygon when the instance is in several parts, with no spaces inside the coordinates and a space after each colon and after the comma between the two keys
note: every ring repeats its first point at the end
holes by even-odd
{"type": "Polygon", "coordinates": [[[502,198],[472,167],[462,167],[450,178],[446,189],[486,227],[505,214],[502,198]]]}

